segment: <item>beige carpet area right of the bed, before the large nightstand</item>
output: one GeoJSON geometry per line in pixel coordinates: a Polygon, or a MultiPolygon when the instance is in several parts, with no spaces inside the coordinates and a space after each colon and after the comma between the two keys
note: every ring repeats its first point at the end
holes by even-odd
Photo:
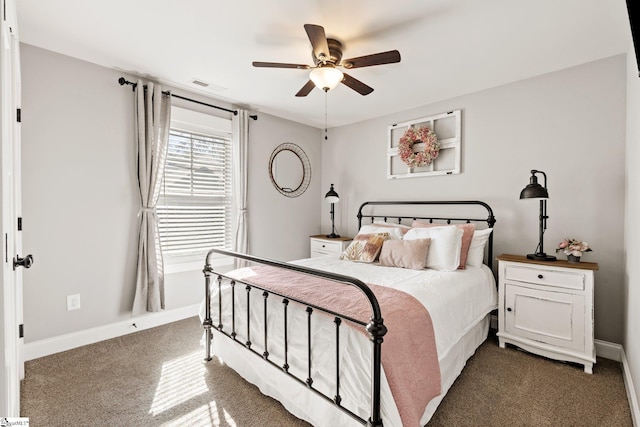
{"type": "Polygon", "coordinates": [[[582,365],[501,349],[490,337],[469,359],[431,426],[632,427],[620,363],[582,365]]]}

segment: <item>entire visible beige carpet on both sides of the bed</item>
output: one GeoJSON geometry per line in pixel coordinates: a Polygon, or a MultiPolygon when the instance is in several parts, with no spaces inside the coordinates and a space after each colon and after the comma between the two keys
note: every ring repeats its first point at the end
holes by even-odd
{"type": "MultiPolygon", "coordinates": [[[[22,416],[40,426],[308,426],[218,359],[197,318],[27,362],[22,416]]],[[[483,344],[429,426],[632,426],[620,365],[483,344]]]]}

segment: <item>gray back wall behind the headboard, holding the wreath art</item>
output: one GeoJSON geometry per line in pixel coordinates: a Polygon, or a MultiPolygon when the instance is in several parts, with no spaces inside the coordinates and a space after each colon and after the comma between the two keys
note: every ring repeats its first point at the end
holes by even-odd
{"type": "Polygon", "coordinates": [[[545,250],[554,253],[565,236],[592,245],[584,260],[600,266],[595,335],[621,343],[625,67],[624,56],[612,57],[332,129],[322,187],[334,182],[340,193],[337,225],[353,235],[366,200],[480,199],[498,221],[495,253],[533,253],[538,202],[519,194],[530,170],[543,170],[550,195],[545,250]],[[387,180],[387,126],[455,109],[462,110],[462,173],[387,180]]]}

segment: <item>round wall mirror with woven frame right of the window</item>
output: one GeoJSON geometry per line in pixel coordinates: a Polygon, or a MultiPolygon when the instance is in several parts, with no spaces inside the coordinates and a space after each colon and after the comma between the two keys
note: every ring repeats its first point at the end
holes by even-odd
{"type": "Polygon", "coordinates": [[[271,153],[269,176],[276,189],[287,197],[298,197],[311,181],[309,158],[295,144],[280,144],[271,153]]]}

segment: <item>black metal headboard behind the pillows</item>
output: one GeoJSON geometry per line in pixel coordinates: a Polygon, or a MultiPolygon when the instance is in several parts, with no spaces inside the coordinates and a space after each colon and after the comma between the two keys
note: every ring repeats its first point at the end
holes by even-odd
{"type": "MultiPolygon", "coordinates": [[[[390,222],[391,220],[396,220],[398,224],[402,223],[402,220],[428,220],[430,223],[438,223],[444,222],[446,224],[452,223],[486,223],[487,227],[493,228],[496,223],[496,218],[493,216],[493,209],[491,206],[486,204],[485,202],[481,202],[478,200],[412,200],[412,201],[375,201],[375,202],[364,202],[360,205],[360,209],[358,209],[358,230],[362,227],[362,219],[370,218],[371,222],[375,221],[376,218],[382,219],[385,222],[390,222]],[[455,210],[451,215],[445,214],[442,215],[438,213],[437,215],[405,215],[405,214],[384,214],[375,212],[375,213],[363,213],[363,211],[373,210],[374,206],[422,206],[422,205],[432,205],[432,206],[460,206],[460,205],[475,205],[484,208],[487,212],[487,217],[485,218],[474,218],[471,216],[466,216],[466,211],[461,212],[460,214],[455,213],[455,210]]],[[[489,268],[493,269],[493,233],[489,235],[489,240],[487,241],[487,258],[486,264],[489,268]]]]}

